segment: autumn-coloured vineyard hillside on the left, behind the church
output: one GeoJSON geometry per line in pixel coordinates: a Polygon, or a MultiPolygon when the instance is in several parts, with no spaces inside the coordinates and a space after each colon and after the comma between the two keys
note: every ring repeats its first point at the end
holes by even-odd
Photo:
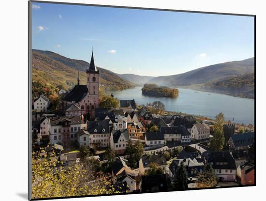
{"type": "MultiPolygon", "coordinates": [[[[62,86],[64,89],[73,87],[77,82],[77,72],[80,71],[81,84],[86,84],[86,69],[89,63],[63,57],[57,53],[43,50],[32,50],[32,80],[42,81],[46,85],[62,86]]],[[[100,85],[104,89],[128,89],[136,86],[117,74],[99,68],[100,85]]]]}

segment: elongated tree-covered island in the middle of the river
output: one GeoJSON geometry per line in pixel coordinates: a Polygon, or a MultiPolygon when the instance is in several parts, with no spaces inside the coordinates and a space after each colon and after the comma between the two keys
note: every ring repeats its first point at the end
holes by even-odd
{"type": "Polygon", "coordinates": [[[178,89],[171,89],[165,86],[159,87],[157,84],[145,84],[141,90],[142,94],[155,97],[176,98],[178,96],[178,89]]]}

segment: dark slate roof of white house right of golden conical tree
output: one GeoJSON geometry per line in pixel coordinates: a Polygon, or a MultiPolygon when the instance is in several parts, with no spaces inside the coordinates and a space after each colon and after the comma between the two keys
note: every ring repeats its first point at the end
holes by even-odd
{"type": "Polygon", "coordinates": [[[236,161],[229,151],[211,152],[208,157],[208,162],[214,169],[236,170],[236,161]]]}

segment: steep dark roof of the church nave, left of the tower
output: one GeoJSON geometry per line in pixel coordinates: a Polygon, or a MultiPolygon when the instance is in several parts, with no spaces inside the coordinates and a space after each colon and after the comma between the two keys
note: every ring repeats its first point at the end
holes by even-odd
{"type": "Polygon", "coordinates": [[[62,100],[80,102],[88,94],[87,85],[75,85],[62,100]]]}

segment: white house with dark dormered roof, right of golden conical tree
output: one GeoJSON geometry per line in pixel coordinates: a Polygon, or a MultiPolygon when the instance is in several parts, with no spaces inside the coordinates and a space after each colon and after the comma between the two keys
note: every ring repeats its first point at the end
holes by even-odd
{"type": "Polygon", "coordinates": [[[233,182],[236,180],[236,161],[231,152],[212,152],[209,155],[208,162],[220,182],[233,182]]]}

